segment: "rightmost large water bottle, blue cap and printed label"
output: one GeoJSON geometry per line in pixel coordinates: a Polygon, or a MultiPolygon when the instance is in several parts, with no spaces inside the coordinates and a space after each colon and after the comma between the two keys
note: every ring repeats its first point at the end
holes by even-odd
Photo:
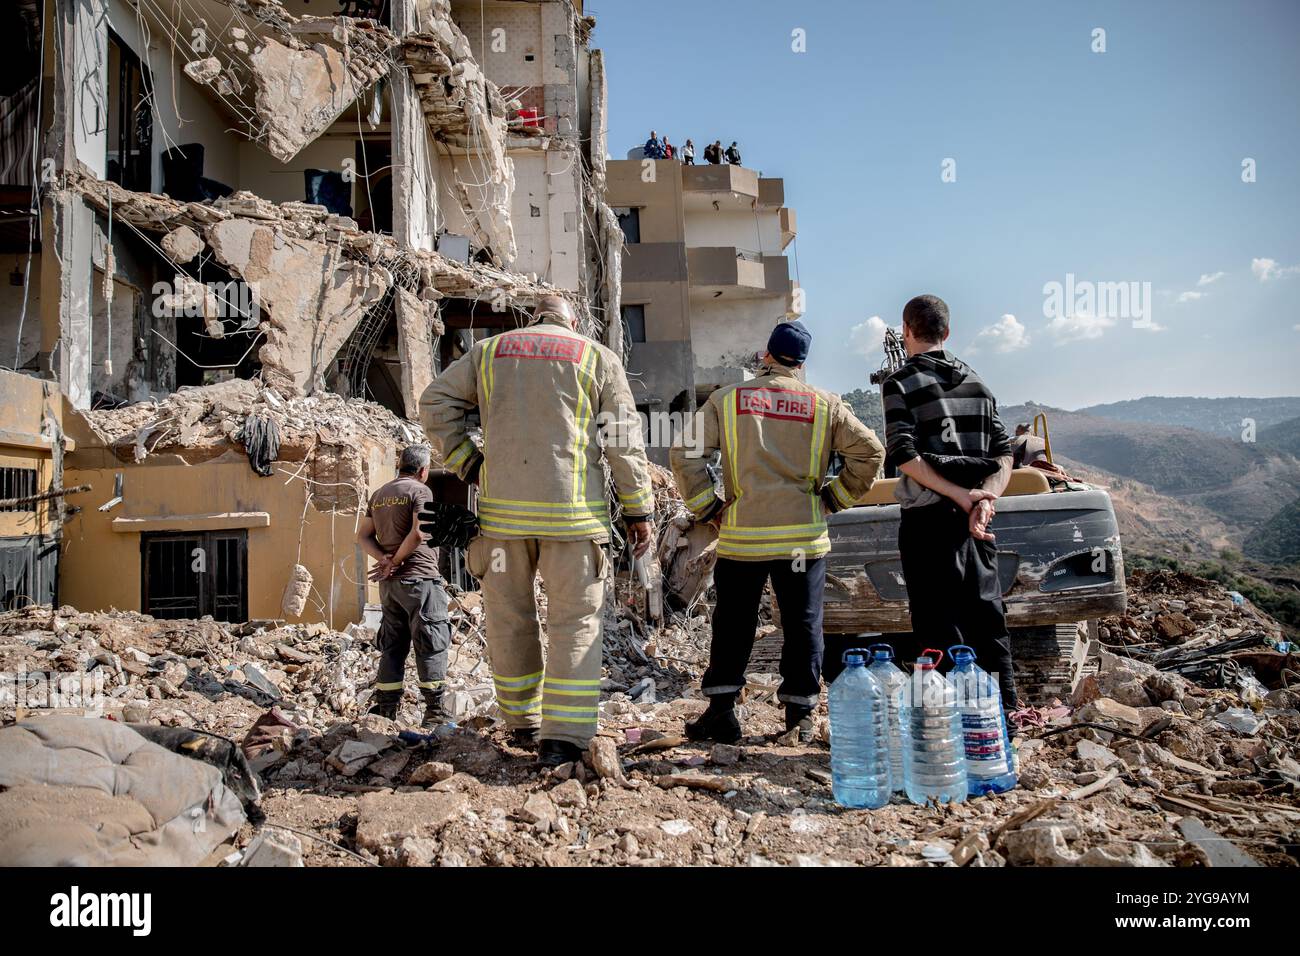
{"type": "Polygon", "coordinates": [[[953,671],[948,679],[957,689],[966,739],[966,792],[970,796],[1005,793],[1015,787],[1011,739],[1006,732],[1002,691],[993,675],[975,663],[975,652],[965,644],[948,649],[953,671]]]}

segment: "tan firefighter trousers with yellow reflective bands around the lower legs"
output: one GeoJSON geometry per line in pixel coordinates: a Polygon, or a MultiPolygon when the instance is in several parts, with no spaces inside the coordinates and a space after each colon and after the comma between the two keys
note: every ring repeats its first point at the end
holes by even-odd
{"type": "Polygon", "coordinates": [[[488,654],[506,726],[586,748],[599,717],[604,546],[480,536],[465,557],[482,585],[488,654]],[[538,574],[546,584],[545,653],[538,574]]]}

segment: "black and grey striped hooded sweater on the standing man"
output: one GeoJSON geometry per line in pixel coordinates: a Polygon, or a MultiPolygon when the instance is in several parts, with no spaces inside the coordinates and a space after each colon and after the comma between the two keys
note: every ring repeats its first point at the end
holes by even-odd
{"type": "MultiPolygon", "coordinates": [[[[885,464],[897,468],[923,453],[1001,458],[1011,442],[997,401],[975,371],[942,349],[920,352],[880,386],[885,410],[885,464]]],[[[941,497],[906,475],[894,493],[902,507],[941,497]]]]}

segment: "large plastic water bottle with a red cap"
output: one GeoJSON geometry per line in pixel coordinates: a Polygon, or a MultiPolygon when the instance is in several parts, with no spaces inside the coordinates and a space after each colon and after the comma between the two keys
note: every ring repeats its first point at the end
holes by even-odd
{"type": "Polygon", "coordinates": [[[902,773],[907,799],[928,804],[966,800],[966,748],[957,689],[935,667],[942,650],[927,648],[902,688],[902,773]]]}

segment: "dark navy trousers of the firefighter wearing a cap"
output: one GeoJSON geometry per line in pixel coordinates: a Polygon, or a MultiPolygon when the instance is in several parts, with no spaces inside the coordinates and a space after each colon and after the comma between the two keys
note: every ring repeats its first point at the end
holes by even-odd
{"type": "Polygon", "coordinates": [[[796,706],[816,706],[822,692],[822,598],[826,589],[826,557],[796,564],[779,561],[733,561],[719,558],[714,567],[718,606],[714,607],[714,640],[708,670],[702,682],[710,696],[734,695],[745,687],[745,667],[754,649],[758,609],[763,587],[772,579],[772,592],[781,609],[781,685],[777,700],[796,706]]]}

